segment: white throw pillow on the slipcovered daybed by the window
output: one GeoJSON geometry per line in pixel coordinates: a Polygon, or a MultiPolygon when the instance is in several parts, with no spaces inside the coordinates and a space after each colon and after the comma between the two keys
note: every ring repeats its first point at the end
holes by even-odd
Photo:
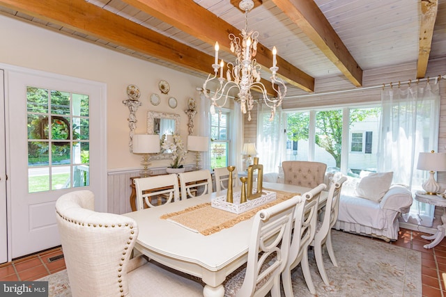
{"type": "Polygon", "coordinates": [[[371,173],[363,177],[356,188],[356,195],[380,202],[392,184],[393,172],[371,173]]]}

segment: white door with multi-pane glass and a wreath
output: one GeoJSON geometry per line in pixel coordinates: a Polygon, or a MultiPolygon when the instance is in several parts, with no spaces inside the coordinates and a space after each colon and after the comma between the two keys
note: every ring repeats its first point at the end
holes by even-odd
{"type": "Polygon", "coordinates": [[[60,245],[54,204],[89,189],[107,211],[105,85],[44,72],[6,71],[10,255],[60,245]]]}

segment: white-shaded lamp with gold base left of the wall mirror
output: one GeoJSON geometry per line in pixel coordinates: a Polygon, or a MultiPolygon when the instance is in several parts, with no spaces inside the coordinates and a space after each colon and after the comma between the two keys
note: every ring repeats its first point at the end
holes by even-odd
{"type": "Polygon", "coordinates": [[[143,154],[141,165],[143,169],[139,171],[139,176],[148,177],[152,171],[148,170],[151,165],[150,155],[160,152],[160,136],[156,134],[134,134],[133,136],[133,153],[143,154]]]}

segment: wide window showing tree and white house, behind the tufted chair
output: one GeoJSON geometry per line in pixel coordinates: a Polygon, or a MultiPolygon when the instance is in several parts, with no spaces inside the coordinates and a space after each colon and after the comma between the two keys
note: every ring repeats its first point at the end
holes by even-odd
{"type": "Polygon", "coordinates": [[[286,160],[320,161],[330,171],[344,166],[342,172],[353,177],[362,170],[376,171],[378,139],[374,137],[378,137],[379,118],[378,106],[287,112],[286,160]],[[346,116],[350,118],[347,129],[346,116]],[[312,135],[314,139],[309,139],[312,135]]]}

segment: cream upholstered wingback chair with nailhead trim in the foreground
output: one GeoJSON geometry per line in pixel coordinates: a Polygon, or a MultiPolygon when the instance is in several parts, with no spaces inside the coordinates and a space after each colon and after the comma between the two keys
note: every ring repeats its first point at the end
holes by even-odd
{"type": "Polygon", "coordinates": [[[91,191],[56,201],[63,256],[72,296],[203,296],[203,286],[183,275],[131,257],[139,227],[134,219],[93,211],[91,191]]]}

